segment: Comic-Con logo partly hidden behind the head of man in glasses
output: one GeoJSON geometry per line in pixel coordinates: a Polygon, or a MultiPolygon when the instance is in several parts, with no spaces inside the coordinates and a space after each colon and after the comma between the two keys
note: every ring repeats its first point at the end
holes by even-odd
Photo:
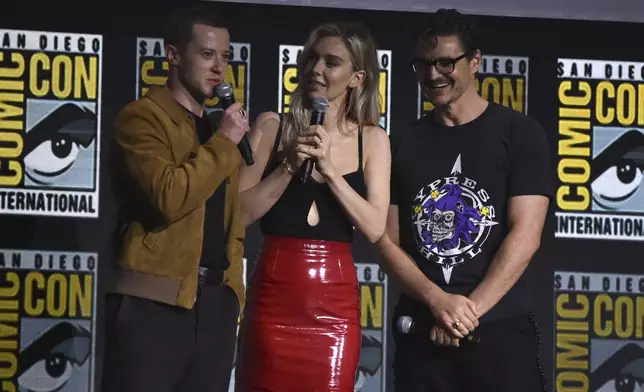
{"type": "MultiPolygon", "coordinates": [[[[527,57],[483,56],[476,74],[476,91],[488,101],[527,114],[529,63],[527,57]]],[[[418,117],[433,109],[418,86],[418,117]]]]}

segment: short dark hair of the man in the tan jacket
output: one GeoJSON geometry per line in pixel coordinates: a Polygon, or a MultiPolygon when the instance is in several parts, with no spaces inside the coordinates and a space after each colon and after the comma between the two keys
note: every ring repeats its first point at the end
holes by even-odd
{"type": "Polygon", "coordinates": [[[179,51],[185,50],[192,39],[193,27],[203,24],[227,29],[221,15],[199,7],[190,7],[176,11],[166,21],[163,33],[164,45],[174,45],[179,51]]]}

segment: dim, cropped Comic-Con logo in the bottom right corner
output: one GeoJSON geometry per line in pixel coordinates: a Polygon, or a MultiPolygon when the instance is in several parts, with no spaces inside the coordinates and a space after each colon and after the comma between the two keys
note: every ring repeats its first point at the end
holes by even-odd
{"type": "Polygon", "coordinates": [[[644,390],[644,276],[554,273],[556,391],[644,390]]]}

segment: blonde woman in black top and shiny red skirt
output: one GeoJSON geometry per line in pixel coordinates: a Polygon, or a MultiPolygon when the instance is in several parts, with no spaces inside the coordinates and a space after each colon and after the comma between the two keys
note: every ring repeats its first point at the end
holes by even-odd
{"type": "Polygon", "coordinates": [[[242,210],[247,225],[260,220],[264,241],[242,327],[240,391],[353,391],[361,339],[353,230],[377,241],[389,206],[379,70],[364,28],[318,26],[298,58],[290,111],[262,113],[249,132],[255,164],[242,165],[242,210]],[[309,126],[317,97],[328,112],[309,126]],[[315,169],[302,183],[305,159],[315,169]]]}

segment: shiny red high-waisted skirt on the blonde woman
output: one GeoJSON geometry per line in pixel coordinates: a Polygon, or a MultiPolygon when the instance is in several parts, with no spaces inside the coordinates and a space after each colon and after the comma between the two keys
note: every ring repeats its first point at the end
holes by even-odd
{"type": "Polygon", "coordinates": [[[351,244],[266,236],[240,337],[240,392],[353,392],[361,329],[351,244]]]}

